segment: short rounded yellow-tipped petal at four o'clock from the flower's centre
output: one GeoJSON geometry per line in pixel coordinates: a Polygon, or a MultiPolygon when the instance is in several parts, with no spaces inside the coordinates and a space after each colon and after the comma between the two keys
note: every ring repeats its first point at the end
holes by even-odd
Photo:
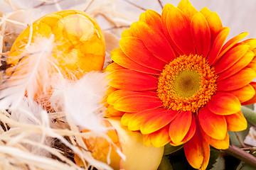
{"type": "Polygon", "coordinates": [[[231,115],[240,111],[241,104],[233,94],[216,94],[207,104],[210,111],[218,115],[231,115]]]}

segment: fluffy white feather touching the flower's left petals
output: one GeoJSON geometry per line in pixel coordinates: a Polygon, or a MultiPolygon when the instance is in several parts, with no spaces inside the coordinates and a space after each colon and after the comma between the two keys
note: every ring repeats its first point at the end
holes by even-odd
{"type": "Polygon", "coordinates": [[[107,89],[106,74],[89,72],[78,81],[58,84],[50,98],[55,111],[65,111],[76,125],[95,132],[105,131],[101,125],[105,107],[102,100],[107,89]]]}

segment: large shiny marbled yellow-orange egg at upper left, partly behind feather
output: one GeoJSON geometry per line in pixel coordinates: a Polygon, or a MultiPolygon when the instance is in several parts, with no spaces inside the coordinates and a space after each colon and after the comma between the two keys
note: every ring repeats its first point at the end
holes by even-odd
{"type": "MultiPolygon", "coordinates": [[[[36,89],[36,98],[46,94],[46,91],[50,93],[50,85],[45,86],[46,72],[48,77],[61,72],[65,79],[80,79],[85,72],[102,70],[105,62],[105,39],[98,23],[82,11],[58,11],[39,18],[18,35],[7,59],[7,64],[11,67],[6,70],[6,74],[15,77],[10,81],[21,79],[20,77],[30,72],[28,67],[34,67],[35,64],[28,63],[31,63],[35,55],[41,55],[46,45],[35,45],[41,40],[53,41],[46,57],[52,68],[46,71],[43,62],[37,64],[41,68],[36,73],[35,82],[38,85],[33,87],[36,89]],[[31,52],[29,49],[33,46],[39,52],[35,49],[31,52]]],[[[26,93],[28,94],[28,89],[26,93]]]]}

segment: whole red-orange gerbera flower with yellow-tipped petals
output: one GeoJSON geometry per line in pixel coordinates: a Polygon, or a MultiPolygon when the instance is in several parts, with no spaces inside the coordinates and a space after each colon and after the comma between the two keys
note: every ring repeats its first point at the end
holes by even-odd
{"type": "Polygon", "coordinates": [[[227,130],[247,127],[240,111],[254,101],[256,40],[228,42],[229,28],[189,1],[147,10],[112,51],[107,116],[139,130],[145,145],[183,145],[188,162],[206,169],[209,145],[227,149],[227,130]]]}

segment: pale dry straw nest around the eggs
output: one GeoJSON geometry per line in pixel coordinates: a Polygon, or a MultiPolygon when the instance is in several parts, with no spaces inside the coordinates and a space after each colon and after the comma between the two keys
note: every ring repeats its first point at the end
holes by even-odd
{"type": "MultiPolygon", "coordinates": [[[[36,5],[30,4],[28,8],[23,8],[15,4],[15,1],[6,0],[6,8],[11,8],[11,11],[0,11],[0,80],[4,77],[6,58],[18,34],[37,18],[48,13],[48,9],[63,9],[63,1],[34,2],[36,5]]],[[[106,40],[105,66],[111,62],[110,51],[118,47],[122,30],[139,17],[139,13],[127,15],[125,11],[119,11],[115,2],[83,1],[78,6],[69,8],[86,11],[100,23],[106,40]]],[[[25,110],[18,112],[20,115],[26,115],[30,121],[17,121],[8,111],[0,112],[0,169],[111,169],[107,164],[93,159],[82,141],[82,138],[102,134],[80,132],[65,113],[46,113],[39,109],[39,117],[36,118],[25,110]],[[74,153],[80,155],[82,162],[86,162],[87,166],[77,166],[74,153]]],[[[102,136],[106,137],[104,134],[102,136]]],[[[110,139],[107,140],[111,142],[110,139]]]]}

